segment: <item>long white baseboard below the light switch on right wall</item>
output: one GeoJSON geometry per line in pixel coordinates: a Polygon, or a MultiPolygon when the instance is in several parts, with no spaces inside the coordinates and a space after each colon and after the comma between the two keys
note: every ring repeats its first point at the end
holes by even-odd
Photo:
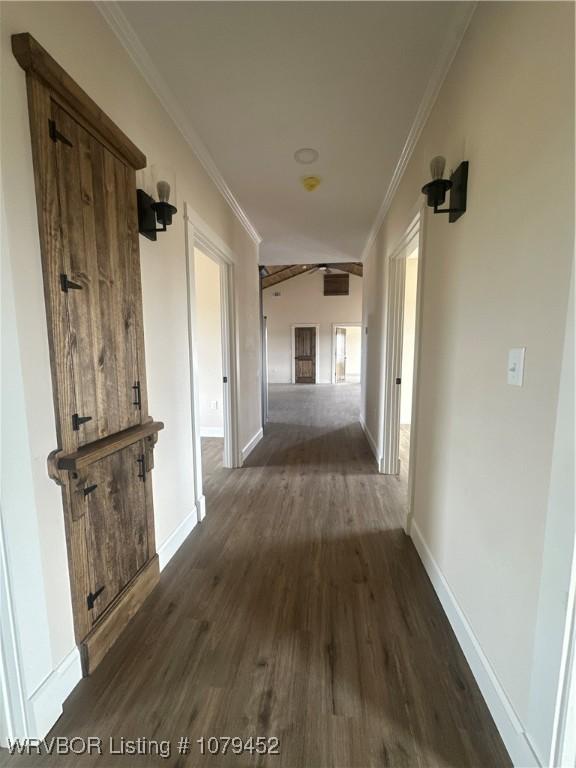
{"type": "Polygon", "coordinates": [[[541,763],[530,746],[529,738],[520,718],[514,711],[504,688],[474,634],[474,630],[459,606],[450,585],[434,560],[414,520],[410,526],[410,536],[432,582],[432,586],[442,603],[444,612],[454,630],[464,656],[470,665],[472,674],[476,678],[478,687],[488,705],[488,709],[496,723],[512,763],[517,768],[540,766],[541,763]]]}

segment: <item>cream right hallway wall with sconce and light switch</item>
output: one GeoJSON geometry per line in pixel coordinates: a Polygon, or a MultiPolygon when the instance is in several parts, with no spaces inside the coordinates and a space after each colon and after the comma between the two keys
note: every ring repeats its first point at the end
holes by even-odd
{"type": "MultiPolygon", "coordinates": [[[[471,628],[488,687],[493,674],[519,718],[509,748],[529,755],[525,731],[542,761],[549,696],[536,711],[530,702],[573,258],[573,35],[570,4],[478,4],[365,275],[364,412],[380,440],[385,260],[430,159],[468,160],[467,213],[425,221],[414,531],[471,628]],[[506,381],[516,346],[527,348],[522,388],[506,381]]],[[[566,553],[566,518],[560,526],[566,553]]]]}

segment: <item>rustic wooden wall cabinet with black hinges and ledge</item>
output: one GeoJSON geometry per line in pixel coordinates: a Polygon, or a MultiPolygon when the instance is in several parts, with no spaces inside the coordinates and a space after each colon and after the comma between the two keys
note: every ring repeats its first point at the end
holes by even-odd
{"type": "Polygon", "coordinates": [[[76,639],[85,674],[158,579],[135,170],[137,147],[30,37],[26,70],[76,639]]]}

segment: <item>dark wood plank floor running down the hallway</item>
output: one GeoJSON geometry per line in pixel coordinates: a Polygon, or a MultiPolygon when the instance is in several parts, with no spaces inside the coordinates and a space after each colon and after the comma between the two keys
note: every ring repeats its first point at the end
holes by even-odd
{"type": "Polygon", "coordinates": [[[404,476],[376,473],[358,400],[355,385],[272,387],[245,468],[205,443],[207,518],[53,735],[192,740],[170,761],[94,761],[112,768],[510,765],[401,529],[404,476]],[[278,737],[280,755],[202,758],[194,743],[251,735],[278,737]]]}

